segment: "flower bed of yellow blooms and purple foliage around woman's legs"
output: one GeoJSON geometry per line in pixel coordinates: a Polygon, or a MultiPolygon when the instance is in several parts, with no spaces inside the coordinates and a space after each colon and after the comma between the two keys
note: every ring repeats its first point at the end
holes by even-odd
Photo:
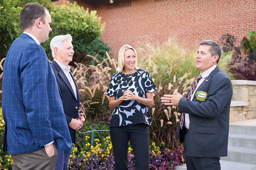
{"type": "MultiPolygon", "coordinates": [[[[87,140],[89,136],[85,136],[87,140]]],[[[69,158],[68,168],[71,170],[82,170],[82,169],[114,169],[115,161],[110,141],[110,136],[100,141],[94,139],[95,146],[90,143],[84,143],[83,148],[77,148],[73,146],[72,154],[69,158]]],[[[135,170],[135,159],[132,152],[132,147],[129,143],[128,153],[128,169],[135,170]]],[[[151,143],[149,166],[152,170],[169,170],[183,164],[184,162],[183,148],[175,148],[171,151],[164,146],[156,145],[154,142],[151,143]]]]}

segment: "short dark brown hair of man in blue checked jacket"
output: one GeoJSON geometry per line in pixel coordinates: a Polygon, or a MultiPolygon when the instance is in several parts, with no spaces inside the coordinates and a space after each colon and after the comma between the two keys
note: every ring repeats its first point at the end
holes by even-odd
{"type": "Polygon", "coordinates": [[[20,25],[22,32],[28,28],[32,28],[37,18],[41,18],[44,23],[46,16],[45,10],[47,9],[38,3],[26,4],[20,12],[20,25]]]}

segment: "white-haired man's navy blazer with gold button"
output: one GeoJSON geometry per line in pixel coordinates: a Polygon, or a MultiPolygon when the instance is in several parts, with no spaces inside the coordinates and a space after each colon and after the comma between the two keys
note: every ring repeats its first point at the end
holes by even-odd
{"type": "MultiPolygon", "coordinates": [[[[61,93],[62,100],[63,100],[64,113],[66,116],[67,123],[69,124],[71,122],[72,118],[73,119],[77,118],[79,104],[80,104],[80,97],[79,97],[79,92],[78,92],[78,88],[76,85],[76,81],[75,81],[75,78],[74,78],[73,74],[71,73],[71,71],[69,71],[69,74],[71,75],[71,77],[76,85],[77,100],[76,100],[75,93],[72,89],[72,86],[71,86],[70,82],[68,81],[67,76],[65,75],[63,70],[60,68],[59,64],[53,60],[51,63],[51,66],[52,66],[52,70],[54,72],[54,75],[57,79],[57,83],[60,88],[60,93],[61,93]]],[[[72,142],[75,144],[76,130],[70,128],[69,126],[68,126],[68,129],[70,132],[72,142]]]]}

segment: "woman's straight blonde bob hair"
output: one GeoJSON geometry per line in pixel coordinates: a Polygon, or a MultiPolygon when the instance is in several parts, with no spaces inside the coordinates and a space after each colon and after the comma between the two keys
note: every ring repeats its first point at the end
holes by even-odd
{"type": "MultiPolygon", "coordinates": [[[[128,44],[123,45],[123,47],[121,47],[118,52],[118,67],[116,68],[116,71],[118,71],[120,73],[123,72],[123,70],[124,70],[124,52],[127,49],[132,49],[134,51],[135,57],[137,59],[137,51],[134,48],[132,48],[132,46],[130,46],[128,44]]],[[[134,68],[136,70],[139,69],[139,67],[137,67],[137,60],[135,62],[134,68]]]]}

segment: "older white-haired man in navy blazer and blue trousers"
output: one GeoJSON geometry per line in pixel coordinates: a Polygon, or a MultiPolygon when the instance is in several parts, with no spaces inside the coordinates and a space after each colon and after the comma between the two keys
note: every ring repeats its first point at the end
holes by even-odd
{"type": "MultiPolygon", "coordinates": [[[[52,38],[50,43],[52,57],[54,58],[51,66],[60,88],[63,98],[63,109],[68,123],[68,129],[72,142],[76,142],[76,130],[83,126],[85,121],[84,114],[79,113],[80,97],[76,85],[75,78],[70,71],[68,65],[74,55],[74,47],[72,45],[72,36],[58,35],[52,38]]],[[[55,170],[68,169],[69,155],[58,149],[58,157],[55,170]]]]}

